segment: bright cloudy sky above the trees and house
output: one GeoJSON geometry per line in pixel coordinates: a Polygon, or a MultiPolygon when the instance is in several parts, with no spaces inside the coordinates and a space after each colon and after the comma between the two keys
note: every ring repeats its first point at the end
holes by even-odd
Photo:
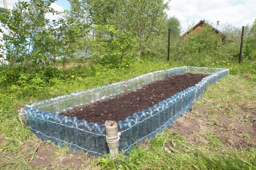
{"type": "MultiPolygon", "coordinates": [[[[6,0],[8,8],[12,8],[18,0],[6,0]]],[[[58,11],[69,9],[67,0],[57,0],[51,5],[58,11]]],[[[0,0],[0,7],[4,7],[0,0]]],[[[182,27],[181,33],[194,26],[200,20],[206,20],[213,27],[222,30],[222,27],[231,24],[235,27],[251,26],[256,19],[256,0],[171,0],[169,17],[177,17],[182,27]],[[219,25],[217,26],[217,21],[219,25]]],[[[47,14],[48,19],[57,19],[58,16],[47,14]],[[57,18],[56,18],[57,17],[57,18]]]]}

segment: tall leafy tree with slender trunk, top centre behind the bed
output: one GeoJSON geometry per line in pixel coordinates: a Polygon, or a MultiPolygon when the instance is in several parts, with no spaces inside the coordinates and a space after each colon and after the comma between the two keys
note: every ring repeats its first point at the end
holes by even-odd
{"type": "Polygon", "coordinates": [[[137,42],[138,60],[149,37],[166,18],[169,1],[163,0],[87,0],[92,23],[112,25],[137,42]]]}

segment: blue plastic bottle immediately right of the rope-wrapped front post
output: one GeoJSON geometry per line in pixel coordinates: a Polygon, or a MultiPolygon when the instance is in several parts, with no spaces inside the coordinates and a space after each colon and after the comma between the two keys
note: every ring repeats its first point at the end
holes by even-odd
{"type": "Polygon", "coordinates": [[[119,139],[119,151],[126,150],[129,152],[132,144],[132,126],[129,121],[118,121],[117,122],[118,132],[121,133],[119,139]]]}

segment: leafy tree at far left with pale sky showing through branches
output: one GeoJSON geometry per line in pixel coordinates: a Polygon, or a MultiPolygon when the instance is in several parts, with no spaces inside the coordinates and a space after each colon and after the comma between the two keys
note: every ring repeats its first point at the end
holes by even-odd
{"type": "Polygon", "coordinates": [[[3,33],[6,58],[10,65],[16,66],[20,62],[29,72],[29,63],[38,60],[38,56],[32,52],[33,37],[49,23],[44,14],[55,13],[49,7],[52,2],[54,0],[33,0],[30,3],[18,1],[12,10],[0,14],[2,26],[10,31],[9,34],[3,33]]]}

